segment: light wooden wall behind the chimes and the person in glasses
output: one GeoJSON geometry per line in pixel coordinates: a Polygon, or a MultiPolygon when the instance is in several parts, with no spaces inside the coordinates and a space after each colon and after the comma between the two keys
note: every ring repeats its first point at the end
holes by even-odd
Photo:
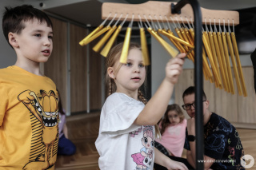
{"type": "MultiPolygon", "coordinates": [[[[254,73],[252,67],[243,67],[243,75],[246,82],[248,97],[238,95],[234,81],[235,94],[226,93],[224,89],[217,89],[210,81],[203,82],[204,92],[210,101],[210,111],[226,118],[226,120],[238,123],[239,127],[248,128],[248,124],[256,123],[256,97],[254,92],[254,73]],[[246,125],[247,124],[247,125],[246,125]]],[[[182,93],[190,85],[194,85],[194,69],[184,69],[175,85],[175,103],[183,105],[182,93]]],[[[186,111],[184,111],[188,118],[186,111]]]]}

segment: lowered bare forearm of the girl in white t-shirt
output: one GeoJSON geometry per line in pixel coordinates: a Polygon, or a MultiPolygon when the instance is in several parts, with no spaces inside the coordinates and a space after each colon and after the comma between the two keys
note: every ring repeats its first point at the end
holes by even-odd
{"type": "Polygon", "coordinates": [[[158,151],[157,148],[154,148],[154,162],[166,167],[167,169],[188,169],[185,164],[171,160],[168,156],[158,151]]]}

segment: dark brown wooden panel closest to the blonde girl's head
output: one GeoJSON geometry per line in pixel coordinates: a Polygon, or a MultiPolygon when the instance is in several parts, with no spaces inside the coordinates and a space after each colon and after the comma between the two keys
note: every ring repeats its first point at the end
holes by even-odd
{"type": "MultiPolygon", "coordinates": [[[[102,81],[105,83],[105,77],[102,77],[102,60],[100,53],[95,53],[94,45],[100,38],[90,42],[90,110],[102,109],[102,81]]],[[[104,93],[104,92],[103,92],[104,93]]]]}

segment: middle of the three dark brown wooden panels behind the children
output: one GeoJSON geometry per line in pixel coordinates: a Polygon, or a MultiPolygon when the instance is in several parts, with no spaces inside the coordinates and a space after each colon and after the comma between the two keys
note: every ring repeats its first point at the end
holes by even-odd
{"type": "Polygon", "coordinates": [[[78,42],[86,37],[86,29],[70,24],[70,107],[71,113],[87,110],[86,46],[78,42]]]}

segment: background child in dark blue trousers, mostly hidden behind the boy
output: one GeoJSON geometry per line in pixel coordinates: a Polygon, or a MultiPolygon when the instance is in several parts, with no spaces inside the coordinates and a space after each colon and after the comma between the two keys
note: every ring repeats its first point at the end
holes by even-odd
{"type": "Polygon", "coordinates": [[[71,156],[74,155],[76,147],[71,140],[68,139],[68,132],[66,127],[66,113],[62,108],[61,96],[58,93],[58,112],[59,112],[59,122],[58,122],[58,155],[71,156]]]}

